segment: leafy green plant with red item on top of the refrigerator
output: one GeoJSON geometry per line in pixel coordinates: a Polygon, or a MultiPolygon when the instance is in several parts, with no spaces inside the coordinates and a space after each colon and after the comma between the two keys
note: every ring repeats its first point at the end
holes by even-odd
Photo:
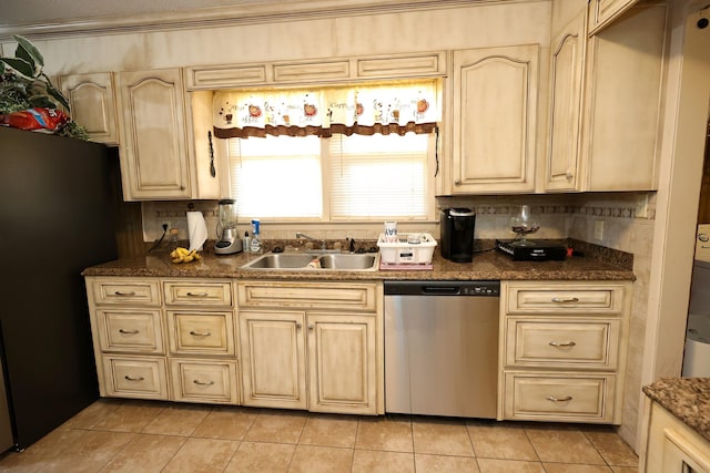
{"type": "Polygon", "coordinates": [[[71,120],[67,97],[44,73],[40,51],[27,38],[12,38],[14,58],[0,56],[0,125],[88,140],[71,120]]]}

